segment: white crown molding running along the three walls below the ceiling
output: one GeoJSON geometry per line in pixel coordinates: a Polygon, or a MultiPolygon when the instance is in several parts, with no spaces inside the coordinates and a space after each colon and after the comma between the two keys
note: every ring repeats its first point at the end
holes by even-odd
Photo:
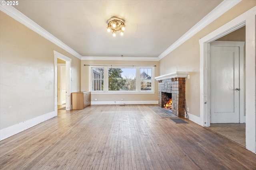
{"type": "Polygon", "coordinates": [[[30,18],[22,14],[16,8],[12,6],[0,6],[0,10],[6,13],[8,16],[14,18],[20,23],[26,25],[28,28],[32,29],[36,33],[42,35],[44,38],[48,39],[52,43],[58,45],[60,48],[66,50],[70,54],[74,55],[78,59],[81,60],[134,60],[134,61],[159,61],[164,58],[174,49],[179,47],[182,43],[187,41],[193,35],[198,33],[201,29],[206,27],[212,21],[216,20],[226,11],[230,10],[233,6],[241,2],[242,0],[224,0],[220,3],[214,10],[212,10],[208,15],[206,15],[201,21],[199,21],[196,25],[194,25],[189,31],[187,31],[182,37],[180,37],[175,43],[173,43],[168,49],[166,49],[162,54],[158,57],[99,57],[99,56],[81,56],[79,53],[68,47],[68,45],[64,44],[62,41],[54,37],[51,33],[43,29],[40,25],[32,21],[30,18]]]}

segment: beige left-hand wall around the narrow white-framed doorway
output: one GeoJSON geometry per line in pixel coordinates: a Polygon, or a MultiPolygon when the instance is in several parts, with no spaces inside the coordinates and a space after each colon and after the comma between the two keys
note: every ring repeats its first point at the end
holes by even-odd
{"type": "Polygon", "coordinates": [[[80,91],[80,59],[0,12],[0,129],[54,111],[54,50],[72,59],[80,91]]]}

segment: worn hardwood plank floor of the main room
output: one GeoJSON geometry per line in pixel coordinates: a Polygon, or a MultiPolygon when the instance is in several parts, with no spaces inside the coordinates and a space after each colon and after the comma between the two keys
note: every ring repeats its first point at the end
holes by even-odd
{"type": "Polygon", "coordinates": [[[256,154],[148,105],[89,106],[0,141],[0,169],[256,169],[256,154]]]}

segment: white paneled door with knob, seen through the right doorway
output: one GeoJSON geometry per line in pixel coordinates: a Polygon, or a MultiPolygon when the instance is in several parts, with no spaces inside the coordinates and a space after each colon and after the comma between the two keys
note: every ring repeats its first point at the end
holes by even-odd
{"type": "Polygon", "coordinates": [[[210,45],[210,123],[239,123],[239,47],[210,45]]]}

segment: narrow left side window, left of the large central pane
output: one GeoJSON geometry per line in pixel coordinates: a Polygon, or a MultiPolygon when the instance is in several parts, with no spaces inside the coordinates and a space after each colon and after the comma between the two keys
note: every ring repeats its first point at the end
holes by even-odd
{"type": "Polygon", "coordinates": [[[92,90],[102,91],[104,82],[104,68],[92,68],[92,90]]]}

